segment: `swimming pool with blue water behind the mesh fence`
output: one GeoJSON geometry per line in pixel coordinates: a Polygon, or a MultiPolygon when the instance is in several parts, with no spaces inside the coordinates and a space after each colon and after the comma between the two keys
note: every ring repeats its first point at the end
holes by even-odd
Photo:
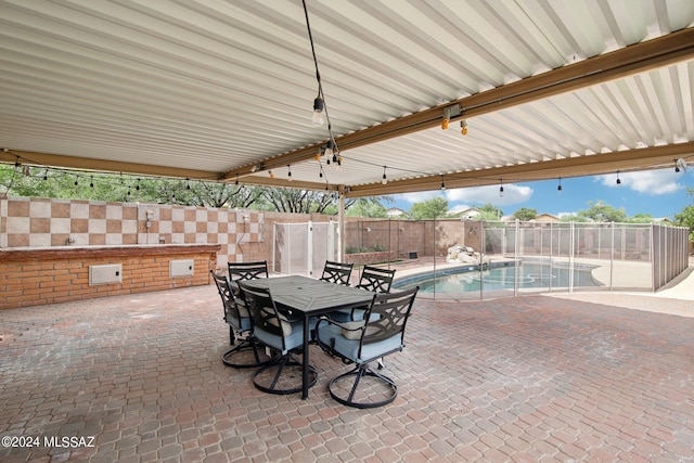
{"type": "MultiPolygon", "coordinates": [[[[566,263],[522,261],[518,267],[519,288],[560,288],[571,284],[571,269],[566,263]]],[[[573,286],[602,286],[592,275],[592,266],[575,266],[573,286]]],[[[393,286],[404,290],[414,285],[422,293],[466,293],[492,290],[513,290],[516,284],[514,262],[489,266],[479,271],[478,267],[457,267],[454,269],[421,273],[397,280],[393,286]]]]}

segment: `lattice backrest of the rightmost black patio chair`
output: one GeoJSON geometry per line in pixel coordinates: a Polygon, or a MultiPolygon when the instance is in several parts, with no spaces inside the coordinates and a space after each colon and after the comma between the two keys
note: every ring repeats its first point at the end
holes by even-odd
{"type": "Polygon", "coordinates": [[[362,347],[373,343],[390,339],[400,336],[400,345],[386,352],[378,352],[376,357],[382,357],[402,349],[404,346],[404,326],[407,325],[412,305],[419,286],[397,293],[377,294],[364,314],[364,327],[361,333],[359,344],[359,357],[362,347]]]}

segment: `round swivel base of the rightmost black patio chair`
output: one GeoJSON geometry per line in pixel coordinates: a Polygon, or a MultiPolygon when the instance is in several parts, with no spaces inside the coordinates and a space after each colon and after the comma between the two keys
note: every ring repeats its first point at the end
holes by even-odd
{"type": "Polygon", "coordinates": [[[389,377],[371,370],[371,368],[365,363],[333,378],[327,385],[327,389],[331,397],[339,403],[358,409],[383,407],[393,402],[398,396],[398,386],[395,382],[389,377]],[[349,387],[348,378],[351,376],[355,378],[351,387],[349,387]],[[363,384],[362,378],[364,378],[364,376],[373,377],[375,380],[375,384],[367,384],[365,387],[362,387],[360,390],[359,386],[363,384]],[[345,389],[349,389],[349,394],[345,394],[345,389]],[[355,396],[360,391],[365,395],[365,398],[355,400],[355,396]]]}

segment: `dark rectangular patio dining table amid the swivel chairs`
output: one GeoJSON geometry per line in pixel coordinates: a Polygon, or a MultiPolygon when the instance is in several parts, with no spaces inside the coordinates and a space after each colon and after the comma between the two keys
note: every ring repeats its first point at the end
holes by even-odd
{"type": "Polygon", "coordinates": [[[304,319],[304,355],[301,398],[308,398],[309,319],[338,309],[351,309],[371,304],[374,293],[301,275],[247,280],[252,287],[269,288],[279,308],[300,313],[304,319]]]}

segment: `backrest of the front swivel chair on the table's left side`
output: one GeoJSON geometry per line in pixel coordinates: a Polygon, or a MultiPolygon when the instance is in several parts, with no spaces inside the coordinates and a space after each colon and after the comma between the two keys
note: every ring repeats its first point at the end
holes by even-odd
{"type": "Polygon", "coordinates": [[[246,301],[248,313],[253,322],[254,332],[258,338],[266,342],[266,337],[262,336],[260,331],[264,331],[271,336],[278,336],[281,339],[280,345],[271,346],[277,349],[286,350],[285,337],[292,334],[292,325],[287,321],[286,317],[280,313],[278,310],[270,288],[265,287],[249,287],[243,281],[239,282],[239,288],[243,294],[243,298],[246,301]]]}

